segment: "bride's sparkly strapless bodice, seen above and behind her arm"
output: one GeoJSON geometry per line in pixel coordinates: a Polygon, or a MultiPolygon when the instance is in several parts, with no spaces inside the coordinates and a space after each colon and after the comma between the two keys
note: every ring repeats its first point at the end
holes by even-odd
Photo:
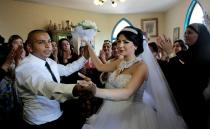
{"type": "MultiPolygon", "coordinates": [[[[117,75],[116,71],[110,74],[108,81],[106,83],[106,88],[123,88],[126,87],[129,81],[131,80],[132,75],[130,74],[119,74],[117,75]]],[[[145,82],[142,86],[139,87],[137,92],[130,98],[133,101],[142,101],[143,92],[145,89],[145,82]]]]}

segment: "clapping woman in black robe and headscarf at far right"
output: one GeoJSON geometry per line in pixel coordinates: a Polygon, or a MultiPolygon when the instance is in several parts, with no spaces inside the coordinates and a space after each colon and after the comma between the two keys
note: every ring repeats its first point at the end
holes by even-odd
{"type": "Polygon", "coordinates": [[[159,37],[158,43],[170,57],[167,79],[189,129],[206,129],[208,110],[203,91],[210,77],[210,34],[205,25],[193,23],[184,37],[187,51],[176,53],[166,37],[159,37]]]}

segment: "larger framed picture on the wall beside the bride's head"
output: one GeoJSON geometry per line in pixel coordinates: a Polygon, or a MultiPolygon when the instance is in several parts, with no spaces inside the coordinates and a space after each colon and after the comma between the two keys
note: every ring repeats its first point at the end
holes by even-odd
{"type": "Polygon", "coordinates": [[[141,19],[141,28],[149,37],[157,37],[158,18],[141,19]]]}

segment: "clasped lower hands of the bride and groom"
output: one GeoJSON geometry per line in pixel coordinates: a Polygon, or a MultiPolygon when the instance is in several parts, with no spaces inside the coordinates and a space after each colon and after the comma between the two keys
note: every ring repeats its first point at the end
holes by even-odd
{"type": "Polygon", "coordinates": [[[96,93],[96,85],[91,81],[91,79],[81,73],[78,73],[80,77],[84,80],[78,80],[77,84],[73,89],[73,95],[77,96],[84,96],[84,95],[91,95],[95,96],[96,93]]]}

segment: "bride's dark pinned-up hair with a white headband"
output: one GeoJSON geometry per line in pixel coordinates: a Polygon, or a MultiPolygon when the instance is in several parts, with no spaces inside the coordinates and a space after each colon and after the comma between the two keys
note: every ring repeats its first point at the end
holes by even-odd
{"type": "Polygon", "coordinates": [[[121,34],[124,35],[129,41],[132,41],[134,45],[137,47],[135,51],[136,56],[138,56],[144,51],[143,32],[140,29],[133,26],[127,26],[117,34],[117,39],[121,34]]]}

